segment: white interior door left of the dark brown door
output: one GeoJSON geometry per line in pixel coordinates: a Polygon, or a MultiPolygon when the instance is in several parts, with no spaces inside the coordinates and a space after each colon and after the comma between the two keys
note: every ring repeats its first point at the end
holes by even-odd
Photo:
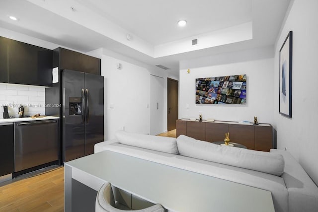
{"type": "Polygon", "coordinates": [[[150,75],[150,135],[164,132],[163,123],[164,79],[150,75]]]}

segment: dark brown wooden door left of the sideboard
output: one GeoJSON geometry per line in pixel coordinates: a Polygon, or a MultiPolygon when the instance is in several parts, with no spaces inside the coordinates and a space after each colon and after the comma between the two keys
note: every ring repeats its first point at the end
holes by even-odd
{"type": "Polygon", "coordinates": [[[178,119],[179,82],[168,78],[168,131],[176,129],[178,119]]]}

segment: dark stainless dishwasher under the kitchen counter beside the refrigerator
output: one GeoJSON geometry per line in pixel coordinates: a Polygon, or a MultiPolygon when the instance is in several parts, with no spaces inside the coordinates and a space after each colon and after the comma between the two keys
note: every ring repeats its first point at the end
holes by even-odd
{"type": "Polygon", "coordinates": [[[58,120],[14,123],[14,172],[44,165],[58,159],[58,120]]]}

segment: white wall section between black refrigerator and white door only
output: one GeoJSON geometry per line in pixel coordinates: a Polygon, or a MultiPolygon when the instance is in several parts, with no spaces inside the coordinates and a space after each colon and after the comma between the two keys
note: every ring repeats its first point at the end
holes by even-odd
{"type": "Polygon", "coordinates": [[[149,133],[150,73],[145,68],[102,57],[102,75],[105,76],[105,115],[109,138],[123,128],[129,132],[149,133]],[[122,69],[117,70],[116,64],[122,69]],[[113,109],[110,108],[113,105],[113,109]]]}

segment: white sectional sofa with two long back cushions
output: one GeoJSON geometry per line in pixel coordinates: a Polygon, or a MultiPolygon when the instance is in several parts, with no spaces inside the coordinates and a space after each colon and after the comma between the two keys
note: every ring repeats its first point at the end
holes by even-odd
{"type": "Polygon", "coordinates": [[[270,191],[276,212],[318,211],[318,187],[293,156],[220,146],[186,136],[166,138],[119,131],[116,139],[95,144],[145,160],[270,191]]]}

